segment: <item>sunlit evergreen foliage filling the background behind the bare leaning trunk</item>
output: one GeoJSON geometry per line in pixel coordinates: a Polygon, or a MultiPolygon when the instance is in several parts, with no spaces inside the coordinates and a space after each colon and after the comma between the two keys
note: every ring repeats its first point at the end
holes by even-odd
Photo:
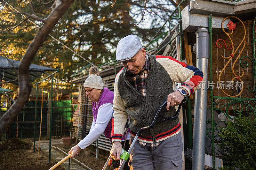
{"type": "MultiPolygon", "coordinates": [[[[95,65],[100,64],[115,57],[116,45],[126,35],[137,34],[143,41],[148,42],[172,12],[171,2],[149,0],[147,11],[157,13],[147,12],[144,19],[148,18],[148,21],[141,22],[143,28],[137,23],[143,14],[144,2],[118,0],[112,7],[112,0],[76,0],[59,20],[51,35],[95,65]]],[[[45,19],[51,12],[54,1],[31,1],[33,10],[27,0],[10,0],[8,3],[20,12],[34,12],[38,18],[45,19]]],[[[20,14],[7,11],[1,3],[0,9],[0,31],[14,27],[24,20],[20,14]]],[[[39,26],[42,25],[41,21],[29,19],[39,26]]],[[[27,20],[11,31],[0,33],[0,55],[21,60],[37,30],[38,28],[27,20]]],[[[69,88],[67,82],[70,75],[88,65],[88,62],[51,37],[47,37],[33,63],[60,69],[55,75],[55,81],[59,85],[66,85],[66,88],[69,88]]]]}

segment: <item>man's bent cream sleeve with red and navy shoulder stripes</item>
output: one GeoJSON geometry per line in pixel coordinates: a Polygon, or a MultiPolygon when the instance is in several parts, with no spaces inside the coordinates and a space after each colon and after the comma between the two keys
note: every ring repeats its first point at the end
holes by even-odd
{"type": "Polygon", "coordinates": [[[198,90],[204,77],[201,70],[171,56],[156,55],[156,61],[164,67],[173,82],[182,83],[181,87],[188,91],[188,96],[198,90]]]}

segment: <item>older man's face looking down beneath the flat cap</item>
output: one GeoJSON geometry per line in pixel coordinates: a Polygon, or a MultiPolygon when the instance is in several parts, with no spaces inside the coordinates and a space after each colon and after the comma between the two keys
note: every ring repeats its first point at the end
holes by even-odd
{"type": "Polygon", "coordinates": [[[146,62],[146,51],[142,48],[130,60],[122,61],[123,66],[131,71],[132,74],[138,74],[146,62]]]}

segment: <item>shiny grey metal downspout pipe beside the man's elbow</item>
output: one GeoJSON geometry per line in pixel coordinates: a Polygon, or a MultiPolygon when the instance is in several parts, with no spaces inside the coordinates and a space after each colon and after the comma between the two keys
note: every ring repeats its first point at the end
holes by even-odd
{"type": "Polygon", "coordinates": [[[195,92],[192,170],[204,170],[208,62],[208,28],[199,27],[196,29],[196,67],[203,71],[204,78],[200,89],[195,92]]]}

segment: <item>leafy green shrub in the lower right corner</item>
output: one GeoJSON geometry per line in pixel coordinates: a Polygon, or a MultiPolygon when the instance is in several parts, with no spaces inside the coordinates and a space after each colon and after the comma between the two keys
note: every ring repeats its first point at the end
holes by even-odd
{"type": "Polygon", "coordinates": [[[220,127],[220,137],[227,165],[222,169],[256,169],[256,121],[238,116],[236,121],[220,127]]]}

